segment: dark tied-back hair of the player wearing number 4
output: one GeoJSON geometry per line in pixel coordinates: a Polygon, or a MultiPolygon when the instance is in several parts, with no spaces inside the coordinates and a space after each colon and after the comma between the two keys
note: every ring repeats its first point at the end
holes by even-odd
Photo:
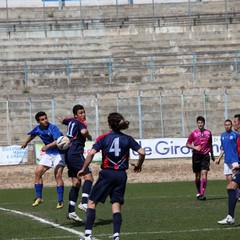
{"type": "Polygon", "coordinates": [[[108,125],[113,131],[120,131],[127,129],[130,122],[125,121],[124,117],[117,112],[110,113],[108,115],[108,125]]]}

